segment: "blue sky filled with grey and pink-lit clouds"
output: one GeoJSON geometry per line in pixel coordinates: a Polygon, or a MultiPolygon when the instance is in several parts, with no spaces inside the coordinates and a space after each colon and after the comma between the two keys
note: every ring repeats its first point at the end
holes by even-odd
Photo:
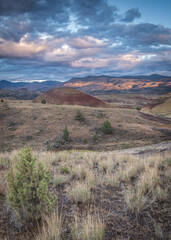
{"type": "Polygon", "coordinates": [[[171,76],[170,0],[0,0],[0,80],[171,76]]]}

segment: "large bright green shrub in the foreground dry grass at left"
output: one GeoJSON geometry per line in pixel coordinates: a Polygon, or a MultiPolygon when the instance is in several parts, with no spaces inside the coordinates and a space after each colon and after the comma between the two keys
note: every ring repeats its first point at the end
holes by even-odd
{"type": "Polygon", "coordinates": [[[15,165],[7,174],[7,200],[19,219],[36,220],[52,210],[56,197],[48,190],[50,180],[31,148],[24,148],[15,157],[15,165]]]}

